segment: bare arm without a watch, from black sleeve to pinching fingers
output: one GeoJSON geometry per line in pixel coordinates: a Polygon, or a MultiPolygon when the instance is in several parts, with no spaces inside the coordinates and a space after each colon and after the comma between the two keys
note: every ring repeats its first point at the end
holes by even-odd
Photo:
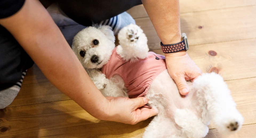
{"type": "Polygon", "coordinates": [[[0,19],[47,79],[95,118],[135,124],[157,114],[137,109],[146,98],[107,97],[91,81],[61,31],[38,0],[27,0],[14,15],[0,19]]]}

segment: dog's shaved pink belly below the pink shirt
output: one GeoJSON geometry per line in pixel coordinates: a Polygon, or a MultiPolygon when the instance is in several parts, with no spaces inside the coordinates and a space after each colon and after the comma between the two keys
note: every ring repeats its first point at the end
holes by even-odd
{"type": "Polygon", "coordinates": [[[158,107],[159,112],[167,110],[169,115],[174,114],[176,109],[191,109],[196,99],[192,83],[188,82],[190,87],[189,94],[182,96],[179,94],[177,85],[174,80],[171,79],[167,70],[161,72],[152,82],[146,97],[150,100],[149,106],[158,107]],[[159,106],[161,103],[161,106],[159,106]]]}

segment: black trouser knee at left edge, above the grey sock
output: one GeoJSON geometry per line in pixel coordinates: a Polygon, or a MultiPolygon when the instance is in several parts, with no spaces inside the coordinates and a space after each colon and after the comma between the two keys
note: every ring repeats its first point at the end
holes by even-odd
{"type": "Polygon", "coordinates": [[[17,83],[34,62],[15,38],[0,25],[0,90],[17,83]]]}

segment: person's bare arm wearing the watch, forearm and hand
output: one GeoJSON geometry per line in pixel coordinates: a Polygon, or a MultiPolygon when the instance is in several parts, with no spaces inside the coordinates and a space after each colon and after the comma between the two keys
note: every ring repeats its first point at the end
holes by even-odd
{"type": "MultiPolygon", "coordinates": [[[[142,3],[162,43],[168,45],[180,42],[179,1],[142,0],[142,3]]],[[[177,84],[179,93],[186,95],[189,93],[186,80],[193,80],[201,74],[201,70],[186,51],[165,54],[165,58],[167,70],[177,84]]]]}

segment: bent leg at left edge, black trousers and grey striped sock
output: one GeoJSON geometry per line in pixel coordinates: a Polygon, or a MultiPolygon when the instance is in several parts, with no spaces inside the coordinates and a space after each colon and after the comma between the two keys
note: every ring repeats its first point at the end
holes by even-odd
{"type": "Polygon", "coordinates": [[[26,70],[33,64],[15,38],[0,25],[0,109],[17,96],[26,70]]]}

